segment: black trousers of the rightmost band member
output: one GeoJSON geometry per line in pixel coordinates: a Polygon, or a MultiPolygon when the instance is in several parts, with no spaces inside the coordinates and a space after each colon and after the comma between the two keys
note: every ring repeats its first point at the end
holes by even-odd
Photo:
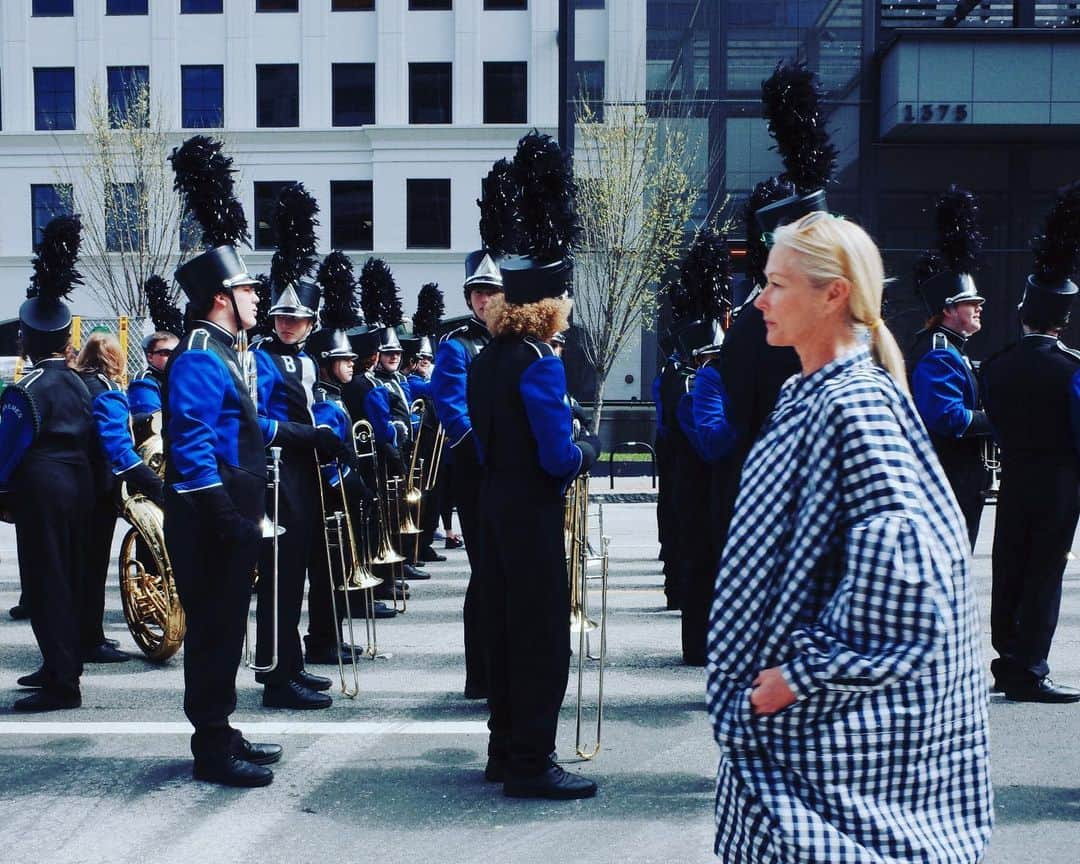
{"type": "Polygon", "coordinates": [[[1044,677],[1062,577],[1080,518],[1080,471],[1052,459],[1002,459],[994,534],[990,638],[1000,684],[1044,677]]]}

